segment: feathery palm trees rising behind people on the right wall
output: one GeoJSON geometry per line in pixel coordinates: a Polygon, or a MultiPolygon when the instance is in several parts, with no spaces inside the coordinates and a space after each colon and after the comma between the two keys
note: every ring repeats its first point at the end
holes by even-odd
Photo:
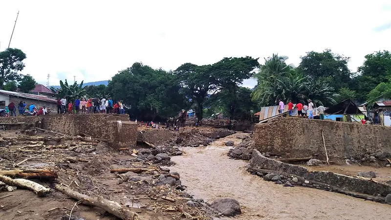
{"type": "Polygon", "coordinates": [[[260,106],[277,105],[278,100],[293,103],[311,99],[315,104],[334,104],[338,94],[325,80],[304,77],[293,66],[286,65],[287,57],[273,54],[265,59],[261,71],[255,74],[258,85],[252,92],[252,100],[260,106]]]}

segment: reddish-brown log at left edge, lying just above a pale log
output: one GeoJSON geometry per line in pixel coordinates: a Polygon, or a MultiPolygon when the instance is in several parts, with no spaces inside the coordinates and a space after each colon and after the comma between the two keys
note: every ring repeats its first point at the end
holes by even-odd
{"type": "MultiPolygon", "coordinates": [[[[23,162],[23,161],[22,161],[23,162]]],[[[30,170],[2,170],[0,175],[23,179],[48,179],[57,178],[57,174],[51,170],[30,169],[30,170]]]]}

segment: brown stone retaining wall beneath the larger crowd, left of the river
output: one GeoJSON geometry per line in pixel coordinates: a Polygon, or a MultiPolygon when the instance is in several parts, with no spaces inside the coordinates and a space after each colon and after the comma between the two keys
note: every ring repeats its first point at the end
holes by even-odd
{"type": "Polygon", "coordinates": [[[54,114],[0,118],[0,124],[17,122],[33,125],[41,122],[40,127],[49,131],[102,138],[113,148],[133,147],[137,141],[137,125],[129,121],[128,115],[54,114]]]}

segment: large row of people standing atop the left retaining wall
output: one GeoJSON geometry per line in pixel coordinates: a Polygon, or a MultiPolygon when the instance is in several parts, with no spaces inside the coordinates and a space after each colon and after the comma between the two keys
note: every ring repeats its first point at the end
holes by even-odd
{"type": "Polygon", "coordinates": [[[57,99],[58,114],[92,114],[92,113],[110,113],[110,114],[125,114],[122,100],[114,102],[111,98],[76,98],[74,102],[67,102],[66,98],[57,99]]]}

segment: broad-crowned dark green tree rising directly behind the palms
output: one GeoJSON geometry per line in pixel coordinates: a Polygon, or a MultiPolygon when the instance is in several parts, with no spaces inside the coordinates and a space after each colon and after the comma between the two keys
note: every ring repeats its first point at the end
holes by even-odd
{"type": "Polygon", "coordinates": [[[329,86],[339,90],[351,83],[351,72],[348,68],[349,57],[335,54],[330,49],[323,52],[310,51],[303,57],[298,69],[304,76],[315,80],[321,79],[329,86]]]}

